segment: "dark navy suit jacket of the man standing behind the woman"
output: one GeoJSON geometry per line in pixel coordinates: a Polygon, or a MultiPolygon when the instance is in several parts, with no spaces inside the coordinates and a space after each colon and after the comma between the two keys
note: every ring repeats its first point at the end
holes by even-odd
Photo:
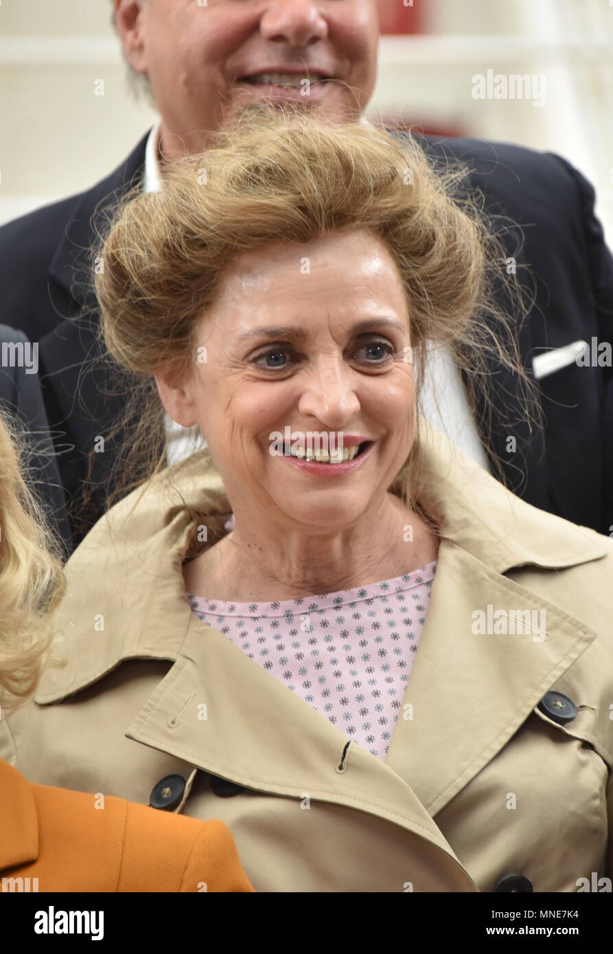
{"type": "MultiPolygon", "coordinates": [[[[103,215],[139,181],[147,135],[92,189],[0,228],[0,321],[40,342],[50,424],[63,429],[74,445],[59,459],[72,498],[96,435],[108,433],[124,406],[104,369],[90,366],[97,312],[85,251],[94,240],[94,214],[103,215]],[[85,317],[79,318],[83,309],[85,317]]],[[[531,370],[534,355],[549,348],[592,337],[612,341],[613,259],[594,215],[593,189],[583,176],[559,156],[518,146],[428,136],[422,143],[437,160],[459,158],[470,167],[468,185],[482,193],[488,216],[517,223],[506,229],[503,241],[534,297],[519,332],[526,368],[531,370]]],[[[539,508],[608,533],[613,525],[613,369],[573,363],[543,378],[545,425],[532,435],[514,423],[518,382],[495,363],[491,370],[496,385],[489,440],[508,486],[539,508]],[[518,438],[516,452],[507,449],[509,436],[518,438]]],[[[482,433],[486,419],[481,406],[477,425],[482,433]]],[[[115,451],[116,442],[95,455],[96,481],[108,475],[115,451]]],[[[96,500],[89,526],[103,512],[102,497],[96,500]]],[[[74,533],[74,545],[83,532],[74,533]]]]}

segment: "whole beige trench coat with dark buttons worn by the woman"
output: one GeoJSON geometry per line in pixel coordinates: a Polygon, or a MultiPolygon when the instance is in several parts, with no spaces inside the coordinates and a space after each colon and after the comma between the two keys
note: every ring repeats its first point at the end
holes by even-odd
{"type": "Polygon", "coordinates": [[[0,757],[143,803],[180,776],[174,810],[222,819],[259,891],[489,892],[511,874],[535,892],[602,891],[613,543],[524,504],[435,432],[424,450],[442,540],[385,761],[191,612],[187,506],[209,528],[231,509],[206,449],[172,468],[175,490],[156,478],[75,551],[67,664],[0,722],[0,757]],[[520,633],[525,611],[536,630],[520,633]],[[563,723],[552,691],[572,700],[563,723]]]}

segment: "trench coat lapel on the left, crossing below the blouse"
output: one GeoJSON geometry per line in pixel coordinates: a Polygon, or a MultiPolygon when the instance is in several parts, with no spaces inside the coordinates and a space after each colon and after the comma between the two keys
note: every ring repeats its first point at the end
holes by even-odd
{"type": "Polygon", "coordinates": [[[459,865],[403,778],[193,614],[178,661],[126,736],[247,788],[378,815],[459,865]]]}

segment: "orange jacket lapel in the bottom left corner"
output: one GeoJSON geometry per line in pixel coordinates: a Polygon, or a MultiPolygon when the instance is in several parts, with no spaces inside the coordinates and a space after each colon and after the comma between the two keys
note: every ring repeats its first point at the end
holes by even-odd
{"type": "Polygon", "coordinates": [[[38,858],[38,813],[32,785],[0,758],[0,872],[38,858]]]}

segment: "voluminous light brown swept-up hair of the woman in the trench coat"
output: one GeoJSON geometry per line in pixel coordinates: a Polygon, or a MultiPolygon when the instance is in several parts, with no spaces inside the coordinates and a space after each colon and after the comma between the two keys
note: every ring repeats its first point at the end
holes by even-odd
{"type": "MultiPolygon", "coordinates": [[[[171,165],[159,193],[133,188],[94,250],[103,263],[95,277],[100,336],[134,392],[122,425],[131,413],[137,419],[117,457],[123,479],[109,503],[165,467],[153,375],[186,371],[197,322],[230,262],[276,242],[370,231],[390,250],[405,288],[418,382],[426,342],[445,344],[470,373],[475,405],[477,390],[487,394],[494,355],[518,375],[529,408],[532,385],[515,333],[523,314],[517,280],[504,275],[506,253],[461,188],[465,172],[433,169],[412,135],[264,106],[239,114],[204,153],[171,165]],[[494,301],[500,281],[512,318],[494,301]]],[[[414,500],[419,465],[416,440],[401,471],[414,500]]]]}

